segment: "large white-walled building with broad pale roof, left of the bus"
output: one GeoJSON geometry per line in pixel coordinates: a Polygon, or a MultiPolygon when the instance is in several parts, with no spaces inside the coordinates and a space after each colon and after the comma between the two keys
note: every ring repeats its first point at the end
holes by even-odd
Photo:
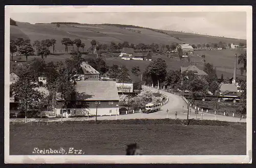
{"type": "MultiPolygon", "coordinates": [[[[115,81],[76,81],[75,94],[70,97],[63,116],[119,115],[119,97],[115,81]]],[[[56,115],[61,115],[61,99],[57,96],[56,115]]]]}

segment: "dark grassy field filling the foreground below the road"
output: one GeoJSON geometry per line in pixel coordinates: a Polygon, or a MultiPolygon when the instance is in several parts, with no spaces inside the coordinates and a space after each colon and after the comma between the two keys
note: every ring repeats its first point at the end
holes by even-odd
{"type": "Polygon", "coordinates": [[[34,148],[81,149],[84,155],[125,155],[137,143],[144,155],[245,155],[246,124],[227,126],[145,124],[10,123],[10,155],[32,155],[34,148]]]}

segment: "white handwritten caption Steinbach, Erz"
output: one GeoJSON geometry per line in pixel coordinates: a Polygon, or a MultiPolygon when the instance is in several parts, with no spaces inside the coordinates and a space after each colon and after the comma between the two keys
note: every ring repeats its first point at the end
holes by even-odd
{"type": "Polygon", "coordinates": [[[63,148],[59,149],[39,149],[37,147],[34,148],[33,154],[38,154],[38,155],[47,155],[47,154],[59,154],[59,155],[82,155],[84,152],[81,149],[74,149],[74,148],[69,148],[68,150],[65,150],[63,148]]]}

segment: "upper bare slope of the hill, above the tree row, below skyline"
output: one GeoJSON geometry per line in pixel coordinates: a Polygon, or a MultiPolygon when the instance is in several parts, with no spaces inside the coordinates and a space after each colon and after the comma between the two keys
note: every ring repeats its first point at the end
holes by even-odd
{"type": "Polygon", "coordinates": [[[222,37],[212,37],[206,35],[197,35],[190,33],[181,33],[173,31],[153,30],[148,28],[136,27],[120,27],[110,24],[29,24],[23,22],[16,22],[17,26],[10,25],[10,38],[16,37],[29,38],[32,42],[35,40],[52,39],[57,40],[56,50],[65,50],[65,46],[61,45],[60,41],[63,37],[70,39],[81,39],[82,43],[86,44],[84,49],[88,49],[92,40],[100,43],[124,42],[139,44],[170,44],[176,43],[219,43],[220,41],[226,43],[246,42],[246,40],[230,39],[222,37]],[[176,39],[178,37],[179,39],[176,39]]]}

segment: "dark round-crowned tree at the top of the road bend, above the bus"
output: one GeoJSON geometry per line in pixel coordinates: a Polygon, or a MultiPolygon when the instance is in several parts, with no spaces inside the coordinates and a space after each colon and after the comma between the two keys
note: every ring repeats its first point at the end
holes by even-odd
{"type": "Polygon", "coordinates": [[[161,58],[154,60],[146,67],[146,73],[151,75],[153,81],[157,81],[158,88],[160,87],[160,83],[165,79],[167,73],[166,68],[166,62],[161,58]]]}

